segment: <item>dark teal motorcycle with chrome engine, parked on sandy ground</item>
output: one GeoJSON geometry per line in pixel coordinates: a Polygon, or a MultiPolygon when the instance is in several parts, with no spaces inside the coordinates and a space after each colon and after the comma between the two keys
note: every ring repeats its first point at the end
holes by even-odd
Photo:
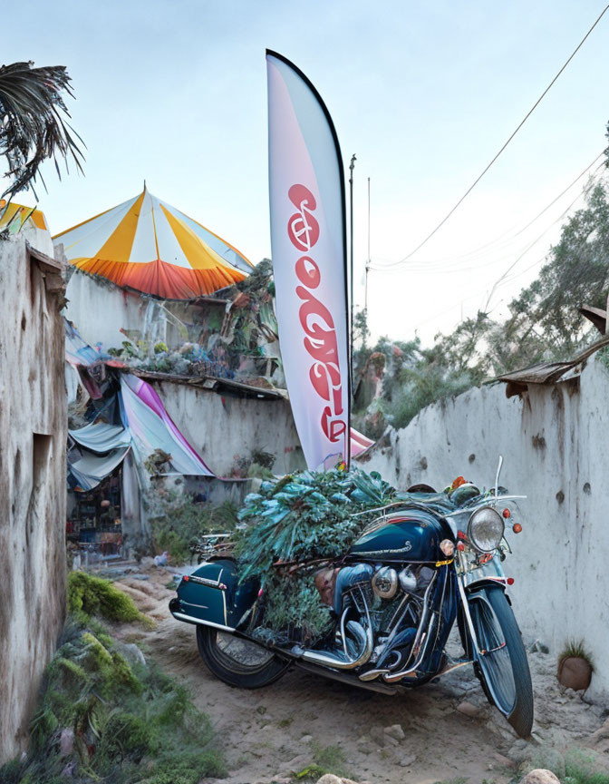
{"type": "Polygon", "coordinates": [[[464,483],[446,505],[433,488],[416,485],[407,501],[372,510],[349,552],[317,573],[333,629],[313,647],[254,636],[264,592],[256,580],[240,581],[239,564],[222,554],[181,578],[169,610],[196,625],[201,658],[231,686],[266,686],[298,666],[397,694],[473,665],[490,704],[527,738],[531,677],[502,568],[511,553],[505,535],[511,507],[525,496],[499,494],[501,465],[499,458],[487,493],[464,483]],[[463,646],[458,659],[445,650],[455,622],[463,646]]]}

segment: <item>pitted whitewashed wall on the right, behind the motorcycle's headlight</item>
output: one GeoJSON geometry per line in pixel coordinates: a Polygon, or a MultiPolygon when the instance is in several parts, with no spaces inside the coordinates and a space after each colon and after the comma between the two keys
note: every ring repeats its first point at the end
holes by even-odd
{"type": "Polygon", "coordinates": [[[529,387],[522,400],[507,400],[503,385],[472,389],[425,408],[362,464],[401,488],[442,489],[458,475],[488,487],[503,455],[501,484],[528,496],[505,564],[518,622],[555,654],[567,639],[584,640],[597,694],[609,692],[608,400],[600,358],[581,377],[529,387]]]}

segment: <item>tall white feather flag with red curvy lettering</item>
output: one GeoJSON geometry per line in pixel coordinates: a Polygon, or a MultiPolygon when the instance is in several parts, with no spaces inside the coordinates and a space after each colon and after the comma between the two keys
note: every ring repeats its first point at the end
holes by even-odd
{"type": "Polygon", "coordinates": [[[279,342],[311,469],[349,461],[344,172],[333,122],[294,64],[266,53],[271,244],[279,342]]]}

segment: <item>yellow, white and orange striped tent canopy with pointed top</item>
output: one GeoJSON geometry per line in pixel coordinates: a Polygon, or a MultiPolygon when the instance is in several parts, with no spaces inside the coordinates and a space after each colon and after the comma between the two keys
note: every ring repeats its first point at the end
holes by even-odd
{"type": "Polygon", "coordinates": [[[53,237],[79,270],[162,299],[194,299],[239,280],[252,264],[146,188],[53,237]]]}

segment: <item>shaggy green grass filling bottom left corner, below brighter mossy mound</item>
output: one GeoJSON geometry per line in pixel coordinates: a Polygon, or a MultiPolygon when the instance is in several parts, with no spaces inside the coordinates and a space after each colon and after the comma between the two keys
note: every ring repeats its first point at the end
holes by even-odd
{"type": "Polygon", "coordinates": [[[0,784],[198,784],[225,775],[211,723],[188,691],[154,666],[131,666],[99,626],[83,624],[82,614],[69,619],[45,673],[28,756],[0,768],[0,784]],[[74,739],[66,757],[63,730],[74,739]]]}

